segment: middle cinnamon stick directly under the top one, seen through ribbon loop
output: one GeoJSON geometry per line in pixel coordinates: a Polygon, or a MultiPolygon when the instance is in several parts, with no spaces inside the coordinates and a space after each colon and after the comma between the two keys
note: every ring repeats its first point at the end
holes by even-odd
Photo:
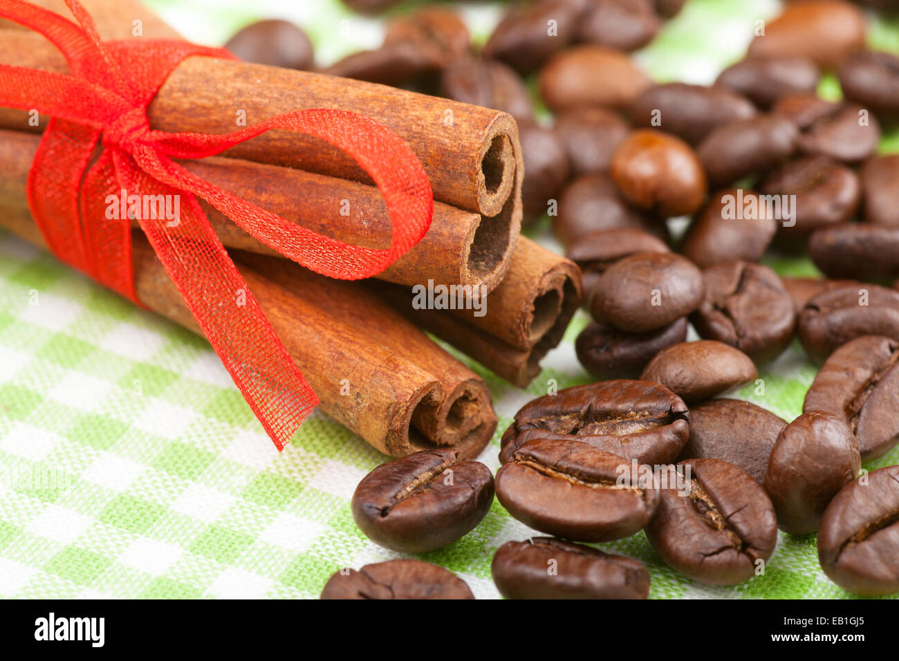
{"type": "MultiPolygon", "coordinates": [[[[0,205],[27,210],[28,172],[39,143],[37,134],[0,130],[0,171],[4,174],[0,205]]],[[[320,234],[358,246],[389,246],[390,219],[373,186],[236,158],[186,160],[182,165],[209,183],[320,234]]],[[[200,203],[225,246],[279,255],[210,204],[200,203]]],[[[511,224],[509,213],[483,219],[435,202],[431,228],[422,241],[377,277],[409,286],[432,279],[448,285],[483,285],[485,291],[492,291],[511,264],[511,224]]]]}

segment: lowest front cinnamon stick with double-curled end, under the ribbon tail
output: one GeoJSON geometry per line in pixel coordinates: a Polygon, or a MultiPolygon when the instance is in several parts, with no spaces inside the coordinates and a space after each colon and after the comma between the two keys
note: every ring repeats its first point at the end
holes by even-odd
{"type": "MultiPolygon", "coordinates": [[[[46,247],[27,210],[0,203],[0,227],[46,247]]],[[[132,247],[138,299],[199,332],[141,232],[132,247]]],[[[359,283],[263,255],[241,254],[236,263],[319,406],[337,422],[397,457],[437,445],[475,457],[490,441],[497,419],[484,381],[359,283]]]]}

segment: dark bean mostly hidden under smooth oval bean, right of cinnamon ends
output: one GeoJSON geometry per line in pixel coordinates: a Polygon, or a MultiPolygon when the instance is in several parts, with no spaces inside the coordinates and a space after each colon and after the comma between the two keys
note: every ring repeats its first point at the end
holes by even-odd
{"type": "Polygon", "coordinates": [[[687,339],[687,318],[645,333],[625,333],[595,321],[574,342],[577,359],[601,380],[636,379],[656,353],[687,339]]]}

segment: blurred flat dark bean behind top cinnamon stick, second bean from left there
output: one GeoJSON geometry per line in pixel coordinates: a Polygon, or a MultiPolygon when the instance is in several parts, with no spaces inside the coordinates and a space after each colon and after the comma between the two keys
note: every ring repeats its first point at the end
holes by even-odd
{"type": "Polygon", "coordinates": [[[417,44],[397,41],[377,50],[361,50],[326,67],[325,74],[399,87],[433,70],[434,63],[417,44]]]}

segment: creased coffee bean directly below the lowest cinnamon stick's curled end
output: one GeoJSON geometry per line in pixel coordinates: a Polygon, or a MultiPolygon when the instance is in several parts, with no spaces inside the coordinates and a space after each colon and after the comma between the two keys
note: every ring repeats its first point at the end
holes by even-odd
{"type": "Polygon", "coordinates": [[[459,460],[440,448],[387,461],[352,495],[360,531],[387,549],[423,553],[442,549],[475,528],[494,500],[494,479],[484,464],[459,460]]]}

